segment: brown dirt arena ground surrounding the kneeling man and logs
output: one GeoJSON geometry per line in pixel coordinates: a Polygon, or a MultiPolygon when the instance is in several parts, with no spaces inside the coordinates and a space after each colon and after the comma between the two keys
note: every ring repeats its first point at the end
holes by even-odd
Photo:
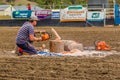
{"type": "MultiPolygon", "coordinates": [[[[104,40],[120,52],[120,27],[54,27],[63,40],[94,46],[104,40]]],[[[0,27],[0,80],[120,80],[120,55],[98,57],[17,56],[15,37],[19,27],[0,27]]],[[[37,27],[47,30],[50,27],[37,27]]],[[[55,39],[52,33],[52,38],[55,39]]],[[[35,46],[49,40],[35,42],[35,46]]]]}

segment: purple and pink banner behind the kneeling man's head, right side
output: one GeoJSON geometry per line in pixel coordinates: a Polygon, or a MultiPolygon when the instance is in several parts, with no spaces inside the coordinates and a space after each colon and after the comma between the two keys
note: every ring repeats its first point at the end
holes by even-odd
{"type": "Polygon", "coordinates": [[[51,10],[39,10],[35,12],[35,16],[39,19],[51,19],[52,11],[51,10]]]}

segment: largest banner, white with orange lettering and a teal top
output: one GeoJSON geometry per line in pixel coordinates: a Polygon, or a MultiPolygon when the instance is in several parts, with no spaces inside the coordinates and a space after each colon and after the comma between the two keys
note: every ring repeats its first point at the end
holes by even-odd
{"type": "Polygon", "coordinates": [[[86,21],[86,8],[81,5],[69,6],[60,11],[61,22],[86,21]]]}

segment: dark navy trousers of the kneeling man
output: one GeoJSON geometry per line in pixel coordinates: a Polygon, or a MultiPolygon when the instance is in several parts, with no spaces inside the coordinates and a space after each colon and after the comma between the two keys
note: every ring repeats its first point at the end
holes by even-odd
{"type": "Polygon", "coordinates": [[[16,45],[19,48],[21,48],[23,52],[29,53],[30,55],[37,54],[37,50],[29,42],[25,42],[24,44],[17,44],[16,43],[16,45]]]}

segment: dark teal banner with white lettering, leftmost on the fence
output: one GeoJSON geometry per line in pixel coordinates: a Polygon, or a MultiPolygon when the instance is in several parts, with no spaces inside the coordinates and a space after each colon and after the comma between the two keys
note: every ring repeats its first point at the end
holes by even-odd
{"type": "Polygon", "coordinates": [[[26,18],[30,18],[32,14],[31,10],[25,10],[25,11],[13,11],[12,13],[12,17],[13,18],[20,18],[20,19],[26,19],[26,18]]]}

